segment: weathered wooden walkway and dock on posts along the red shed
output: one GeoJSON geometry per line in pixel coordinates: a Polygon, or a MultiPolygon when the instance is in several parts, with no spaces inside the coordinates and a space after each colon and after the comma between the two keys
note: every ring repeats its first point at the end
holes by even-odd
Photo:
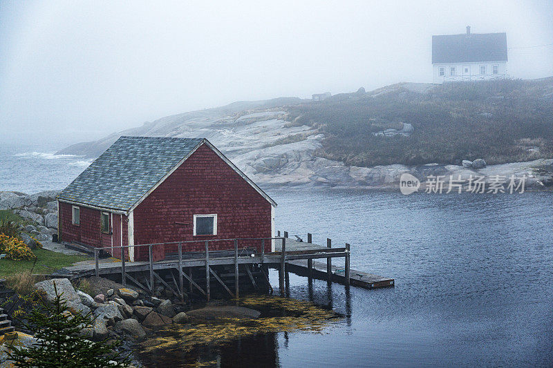
{"type": "MultiPolygon", "coordinates": [[[[279,234],[280,235],[280,234],[279,234]]],[[[288,233],[285,232],[285,236],[288,233]]],[[[126,278],[135,283],[137,280],[133,278],[131,273],[149,271],[149,282],[144,280],[147,289],[153,292],[154,282],[160,280],[164,282],[158,275],[160,270],[174,269],[178,273],[179,282],[176,289],[182,296],[184,291],[184,279],[187,279],[191,285],[194,285],[201,293],[207,296],[209,300],[209,279],[213,277],[225,287],[231,296],[238,296],[238,266],[250,271],[250,267],[254,264],[261,264],[265,267],[279,269],[279,286],[281,292],[284,290],[285,270],[298,273],[299,275],[307,275],[310,278],[320,278],[331,282],[338,282],[349,286],[353,284],[357,287],[366,289],[375,289],[379,287],[393,287],[394,280],[391,278],[382,278],[381,276],[364,273],[362,271],[350,270],[350,246],[345,244],[344,247],[332,247],[330,239],[327,239],[327,246],[313,244],[311,234],[308,234],[308,242],[300,242],[291,238],[272,238],[274,240],[274,251],[269,253],[256,253],[252,249],[240,249],[238,251],[238,240],[234,240],[234,250],[229,251],[209,251],[209,242],[220,240],[210,240],[205,243],[205,252],[183,252],[182,244],[178,244],[178,254],[176,256],[167,256],[165,260],[156,262],[150,261],[122,261],[117,258],[100,259],[100,249],[94,249],[95,259],[77,262],[71,267],[65,267],[66,271],[72,274],[72,278],[78,278],[87,275],[115,275],[122,276],[122,284],[126,284],[126,278]],[[344,258],[344,267],[332,265],[332,258],[344,258]],[[326,260],[326,262],[315,262],[316,259],[326,260]],[[225,285],[219,278],[216,272],[212,269],[214,266],[229,266],[234,265],[234,284],[236,289],[234,293],[225,285]],[[185,269],[205,268],[205,291],[190,279],[190,276],[185,273],[185,269]]],[[[271,239],[265,239],[270,241],[271,239]]],[[[263,240],[263,242],[265,242],[263,240]]],[[[152,259],[152,246],[156,244],[144,244],[140,246],[148,246],[150,258],[152,259]]],[[[122,246],[122,248],[128,246],[122,246]]],[[[263,247],[262,247],[263,248],[263,247]]],[[[263,269],[262,267],[262,269],[263,269]]],[[[172,273],[171,273],[171,276],[172,273]]],[[[176,280],[174,280],[176,284],[176,280]]],[[[140,282],[138,282],[140,284],[140,282]]],[[[255,280],[253,281],[255,284],[255,280]]],[[[176,293],[176,291],[174,291],[176,293]]],[[[178,293],[177,293],[178,294],[178,293]]]]}

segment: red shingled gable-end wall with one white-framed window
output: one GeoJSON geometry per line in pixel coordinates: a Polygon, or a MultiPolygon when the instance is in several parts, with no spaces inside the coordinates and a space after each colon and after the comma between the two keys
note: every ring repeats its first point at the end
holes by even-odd
{"type": "MultiPolygon", "coordinates": [[[[271,204],[243,177],[203,144],[134,209],[134,244],[199,240],[183,251],[204,251],[203,240],[270,238],[271,204]],[[193,236],[194,215],[217,214],[217,235],[193,236]],[[180,224],[179,224],[180,223],[180,224]]],[[[261,241],[241,242],[261,250],[261,241]]],[[[228,242],[209,250],[234,249],[228,242]]],[[[271,242],[265,241],[265,251],[271,242]]],[[[177,245],[166,246],[174,253],[177,245]]],[[[135,260],[146,260],[146,247],[135,247],[135,260]]]]}

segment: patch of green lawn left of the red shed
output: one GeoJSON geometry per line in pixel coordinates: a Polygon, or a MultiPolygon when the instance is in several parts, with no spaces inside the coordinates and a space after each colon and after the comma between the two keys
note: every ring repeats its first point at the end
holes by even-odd
{"type": "MultiPolygon", "coordinates": [[[[66,255],[47,251],[46,249],[35,249],[33,253],[37,255],[37,264],[35,264],[35,269],[32,271],[33,274],[52,273],[63,267],[71,266],[71,264],[75,262],[90,259],[85,255],[66,255]]],[[[34,262],[35,261],[14,261],[2,258],[0,260],[0,277],[21,273],[23,271],[30,271],[34,262]]]]}

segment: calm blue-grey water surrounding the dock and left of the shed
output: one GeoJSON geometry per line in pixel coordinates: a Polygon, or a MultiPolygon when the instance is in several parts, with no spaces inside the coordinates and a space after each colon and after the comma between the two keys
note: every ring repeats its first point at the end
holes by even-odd
{"type": "MultiPolygon", "coordinates": [[[[0,190],[34,193],[71,182],[88,162],[52,155],[57,148],[3,145],[0,190]]],[[[277,229],[313,233],[319,244],[348,242],[353,269],[393,277],[395,288],[346,293],[292,274],[290,296],[348,318],[322,334],[206,347],[221,366],[553,366],[553,193],[270,195],[279,203],[277,229]]],[[[277,273],[271,278],[277,286],[277,273]]]]}

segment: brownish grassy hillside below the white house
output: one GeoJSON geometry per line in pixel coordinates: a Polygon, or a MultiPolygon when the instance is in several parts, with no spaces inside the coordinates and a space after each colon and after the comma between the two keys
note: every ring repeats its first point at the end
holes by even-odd
{"type": "Polygon", "coordinates": [[[348,165],[488,164],[553,156],[553,78],[454,83],[427,93],[391,86],[288,107],[290,124],[326,135],[317,155],[348,165]],[[410,137],[375,136],[413,124],[410,137]]]}

